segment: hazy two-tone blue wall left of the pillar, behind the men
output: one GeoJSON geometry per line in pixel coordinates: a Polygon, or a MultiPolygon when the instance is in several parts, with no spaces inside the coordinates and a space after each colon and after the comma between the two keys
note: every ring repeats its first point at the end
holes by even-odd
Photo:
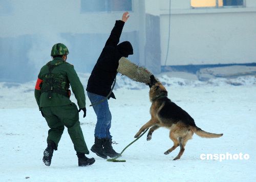
{"type": "MultiPolygon", "coordinates": [[[[135,63],[144,61],[143,2],[132,1],[131,17],[120,38],[133,44],[134,55],[129,58],[135,63]]],[[[78,72],[90,73],[124,11],[85,12],[81,8],[81,0],[0,1],[0,81],[36,79],[58,42],[67,45],[68,62],[78,72]]]]}

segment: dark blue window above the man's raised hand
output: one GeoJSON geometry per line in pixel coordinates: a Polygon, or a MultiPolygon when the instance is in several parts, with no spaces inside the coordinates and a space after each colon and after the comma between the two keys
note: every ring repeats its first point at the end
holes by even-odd
{"type": "Polygon", "coordinates": [[[81,0],[81,12],[132,11],[132,0],[81,0]]]}

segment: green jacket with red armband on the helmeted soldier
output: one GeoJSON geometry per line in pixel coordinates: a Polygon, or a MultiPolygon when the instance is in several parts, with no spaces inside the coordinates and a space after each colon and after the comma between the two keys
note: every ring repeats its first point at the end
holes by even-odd
{"type": "MultiPolygon", "coordinates": [[[[63,88],[68,89],[69,84],[71,85],[72,92],[75,95],[78,107],[86,107],[86,96],[84,95],[84,89],[76,74],[76,71],[74,70],[74,66],[68,62],[63,61],[63,59],[59,57],[53,59],[49,63],[52,65],[57,65],[52,70],[52,74],[56,75],[56,77],[58,77],[57,79],[61,78],[60,80],[66,81],[61,83],[63,88]]],[[[52,97],[49,98],[49,93],[41,92],[42,84],[46,80],[47,75],[49,75],[49,66],[44,65],[38,74],[38,79],[35,85],[35,99],[39,110],[41,110],[41,107],[70,104],[71,100],[67,96],[63,96],[58,93],[52,93],[52,97]]]]}

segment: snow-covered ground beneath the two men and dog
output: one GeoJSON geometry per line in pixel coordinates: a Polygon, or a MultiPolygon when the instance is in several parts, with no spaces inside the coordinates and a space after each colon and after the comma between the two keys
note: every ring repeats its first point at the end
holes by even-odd
{"type": "MultiPolygon", "coordinates": [[[[88,74],[79,74],[84,86],[88,74]]],[[[168,97],[208,132],[224,133],[217,139],[194,134],[180,160],[173,161],[179,148],[173,146],[169,131],[160,128],[152,140],[143,135],[127,148],[120,159],[126,163],[106,162],[95,157],[92,166],[78,167],[77,157],[65,129],[50,167],[42,163],[48,126],[34,99],[34,84],[0,82],[0,180],[1,181],[255,181],[256,156],[256,77],[196,79],[159,76],[168,97]],[[201,160],[201,154],[249,154],[248,160],[201,160]],[[26,179],[27,178],[27,179],[26,179]]],[[[119,76],[117,100],[109,100],[112,111],[111,133],[122,149],[134,140],[135,133],[150,119],[148,87],[119,76]]],[[[74,96],[71,98],[76,103],[74,96]]],[[[90,149],[94,143],[96,116],[87,98],[87,117],[81,128],[90,149]]]]}

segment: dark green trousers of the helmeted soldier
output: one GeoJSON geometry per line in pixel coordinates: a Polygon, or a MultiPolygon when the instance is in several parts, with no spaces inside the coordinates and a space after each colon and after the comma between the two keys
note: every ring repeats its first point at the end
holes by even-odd
{"type": "Polygon", "coordinates": [[[56,145],[56,150],[65,128],[64,126],[66,126],[74,144],[75,151],[89,154],[89,150],[83,138],[78,109],[75,103],[63,106],[41,107],[41,111],[44,113],[44,117],[50,127],[47,141],[53,141],[56,145]]]}

